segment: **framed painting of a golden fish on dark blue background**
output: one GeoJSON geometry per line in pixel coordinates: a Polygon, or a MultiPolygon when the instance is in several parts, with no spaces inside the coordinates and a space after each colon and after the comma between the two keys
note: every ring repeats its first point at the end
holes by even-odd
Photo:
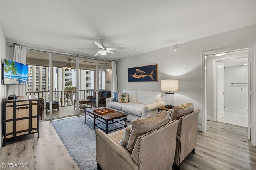
{"type": "Polygon", "coordinates": [[[157,64],[128,68],[128,82],[156,81],[157,64]]]}

